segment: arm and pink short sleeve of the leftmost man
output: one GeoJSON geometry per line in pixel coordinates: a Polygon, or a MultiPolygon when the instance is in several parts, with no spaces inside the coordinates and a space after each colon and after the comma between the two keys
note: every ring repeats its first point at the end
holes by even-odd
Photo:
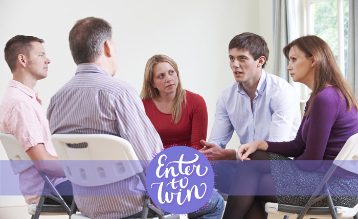
{"type": "Polygon", "coordinates": [[[26,102],[16,104],[6,124],[39,171],[65,177],[61,163],[55,162],[58,158],[50,155],[43,145],[45,130],[31,105],[26,102]]]}

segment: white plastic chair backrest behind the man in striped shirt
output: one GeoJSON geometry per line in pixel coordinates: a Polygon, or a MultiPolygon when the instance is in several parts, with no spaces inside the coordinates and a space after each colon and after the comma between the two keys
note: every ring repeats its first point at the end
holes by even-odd
{"type": "Polygon", "coordinates": [[[99,186],[143,172],[129,141],[105,134],[54,134],[51,138],[66,177],[77,185],[99,186]],[[69,144],[87,143],[86,148],[69,144]]]}

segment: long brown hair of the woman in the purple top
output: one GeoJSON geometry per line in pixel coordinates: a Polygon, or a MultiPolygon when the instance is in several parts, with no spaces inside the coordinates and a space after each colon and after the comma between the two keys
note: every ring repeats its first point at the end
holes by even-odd
{"type": "MultiPolygon", "coordinates": [[[[335,89],[341,90],[347,103],[347,112],[351,109],[352,105],[358,111],[358,103],[354,98],[353,92],[344,79],[340,68],[335,61],[334,55],[330,50],[328,44],[318,36],[303,36],[295,39],[283,48],[285,57],[289,60],[288,54],[293,46],[297,46],[306,58],[314,58],[314,86],[310,96],[311,101],[304,115],[308,115],[312,103],[323,88],[327,85],[332,85],[335,89]]],[[[342,97],[342,96],[341,96],[342,97]]],[[[343,97],[342,97],[343,102],[343,97]]]]}

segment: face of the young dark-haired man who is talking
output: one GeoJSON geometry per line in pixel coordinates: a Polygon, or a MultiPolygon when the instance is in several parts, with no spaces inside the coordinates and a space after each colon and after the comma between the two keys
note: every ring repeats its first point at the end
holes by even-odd
{"type": "Polygon", "coordinates": [[[231,48],[229,50],[229,59],[236,82],[252,84],[260,80],[261,71],[258,68],[261,67],[259,67],[259,59],[255,61],[248,50],[231,48]]]}

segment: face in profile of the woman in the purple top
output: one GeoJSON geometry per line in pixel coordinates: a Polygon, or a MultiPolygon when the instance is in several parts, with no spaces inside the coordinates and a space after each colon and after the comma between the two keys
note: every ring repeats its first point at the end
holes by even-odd
{"type": "Polygon", "coordinates": [[[287,70],[294,82],[300,82],[312,89],[314,84],[313,58],[306,58],[305,54],[296,46],[292,46],[288,53],[289,64],[287,70]]]}

